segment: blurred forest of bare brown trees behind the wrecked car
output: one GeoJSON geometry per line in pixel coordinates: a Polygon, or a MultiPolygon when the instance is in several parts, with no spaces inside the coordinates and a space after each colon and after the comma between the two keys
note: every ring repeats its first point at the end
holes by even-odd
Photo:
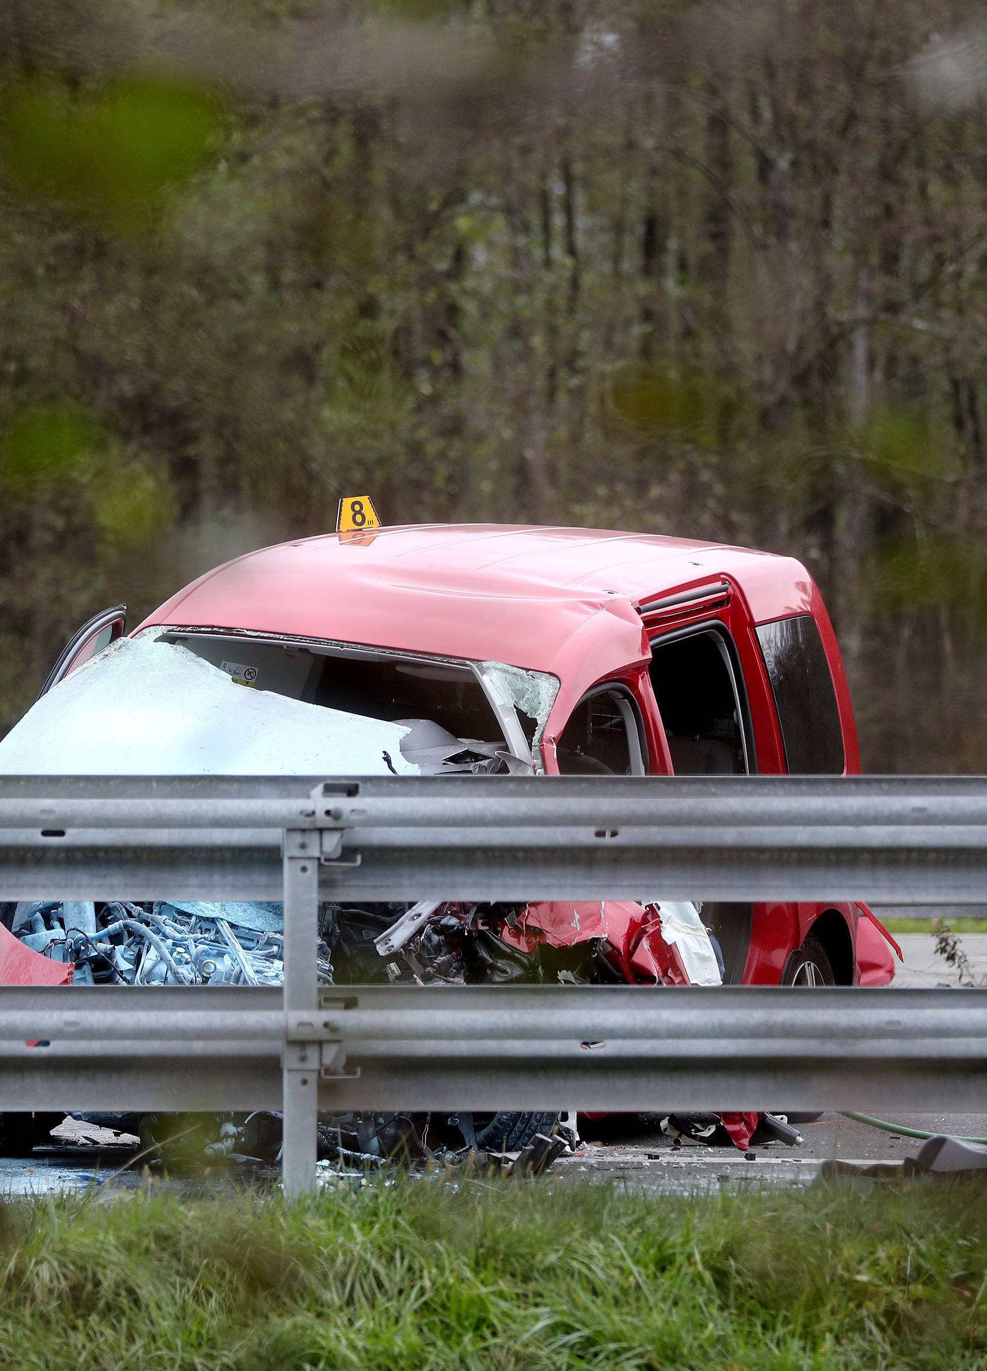
{"type": "Polygon", "coordinates": [[[987,771],[986,111],[972,0],[5,0],[0,732],[369,491],[791,553],[987,771]]]}

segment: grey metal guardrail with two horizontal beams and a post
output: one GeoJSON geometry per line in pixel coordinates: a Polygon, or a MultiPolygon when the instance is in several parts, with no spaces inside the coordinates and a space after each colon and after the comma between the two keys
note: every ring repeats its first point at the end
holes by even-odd
{"type": "Polygon", "coordinates": [[[0,987],[0,1109],[282,1108],[297,1196],[319,1106],[975,1108],[977,991],[321,990],[313,949],[321,899],[986,891],[973,777],[0,777],[0,899],[285,905],[282,990],[0,987]]]}

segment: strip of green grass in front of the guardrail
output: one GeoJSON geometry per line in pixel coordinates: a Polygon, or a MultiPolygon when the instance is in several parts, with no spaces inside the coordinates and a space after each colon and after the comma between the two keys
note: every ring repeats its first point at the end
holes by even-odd
{"type": "Polygon", "coordinates": [[[987,1366],[987,1190],[369,1186],[11,1202],[0,1363],[37,1371],[987,1366]]]}

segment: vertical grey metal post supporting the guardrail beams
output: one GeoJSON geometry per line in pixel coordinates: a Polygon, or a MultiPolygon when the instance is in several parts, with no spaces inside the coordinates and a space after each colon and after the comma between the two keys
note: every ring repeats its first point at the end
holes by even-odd
{"type": "Polygon", "coordinates": [[[285,1198],[315,1189],[321,1046],[315,1032],[318,979],[318,873],[321,838],[313,828],[289,828],[284,839],[284,1132],[281,1182],[285,1198]],[[313,1041],[287,1038],[287,1026],[313,1019],[313,1041]]]}

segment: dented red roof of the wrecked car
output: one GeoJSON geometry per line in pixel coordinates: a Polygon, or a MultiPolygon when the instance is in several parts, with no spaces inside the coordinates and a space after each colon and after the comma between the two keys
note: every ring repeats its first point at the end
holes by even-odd
{"type": "Polygon", "coordinates": [[[806,613],[794,558],[605,529],[426,524],[248,553],[151,614],[169,624],[332,639],[563,675],[587,654],[647,657],[635,606],[725,576],[758,622],[806,613]]]}

